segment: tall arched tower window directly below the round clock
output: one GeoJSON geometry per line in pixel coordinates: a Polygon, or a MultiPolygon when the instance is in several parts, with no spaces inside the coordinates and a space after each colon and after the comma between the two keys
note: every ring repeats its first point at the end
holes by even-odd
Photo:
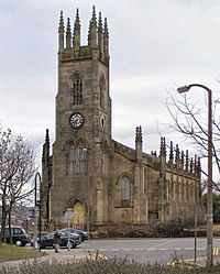
{"type": "Polygon", "coordinates": [[[67,171],[69,175],[87,174],[87,147],[82,142],[72,143],[68,149],[67,171]]]}

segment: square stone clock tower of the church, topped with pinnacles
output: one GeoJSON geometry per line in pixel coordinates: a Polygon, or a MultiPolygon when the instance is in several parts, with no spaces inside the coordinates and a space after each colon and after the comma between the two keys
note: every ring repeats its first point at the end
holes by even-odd
{"type": "Polygon", "coordinates": [[[58,46],[51,219],[62,222],[70,208],[73,226],[87,228],[90,222],[97,224],[108,219],[103,216],[108,208],[107,151],[111,145],[107,19],[102,23],[99,13],[97,22],[94,7],[88,44],[81,45],[78,9],[73,31],[69,19],[65,28],[61,12],[58,46]]]}

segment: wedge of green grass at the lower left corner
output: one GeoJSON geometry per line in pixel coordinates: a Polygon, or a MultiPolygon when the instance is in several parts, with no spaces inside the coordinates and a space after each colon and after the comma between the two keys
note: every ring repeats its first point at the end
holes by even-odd
{"type": "Polygon", "coordinates": [[[32,249],[15,246],[13,244],[2,243],[0,245],[0,262],[8,262],[22,259],[31,259],[34,256],[43,256],[45,252],[38,252],[32,249]]]}

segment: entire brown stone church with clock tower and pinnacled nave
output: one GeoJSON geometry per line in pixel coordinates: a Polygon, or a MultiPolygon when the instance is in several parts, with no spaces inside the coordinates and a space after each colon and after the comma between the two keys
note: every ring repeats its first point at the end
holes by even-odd
{"type": "Polygon", "coordinates": [[[88,43],[80,41],[78,9],[73,31],[61,12],[55,142],[51,146],[46,130],[42,156],[44,223],[62,227],[67,210],[72,227],[89,231],[190,221],[195,208],[201,211],[199,158],[165,138],[158,153],[143,152],[141,127],[134,129],[134,149],[113,140],[109,30],[95,8],[88,43]]]}

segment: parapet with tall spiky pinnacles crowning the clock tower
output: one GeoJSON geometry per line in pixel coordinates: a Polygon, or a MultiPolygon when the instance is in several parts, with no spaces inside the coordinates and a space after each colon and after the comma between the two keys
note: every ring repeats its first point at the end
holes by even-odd
{"type": "Polygon", "coordinates": [[[76,10],[76,18],[72,31],[72,20],[68,18],[64,22],[63,11],[61,11],[58,26],[58,54],[59,61],[78,61],[87,58],[98,58],[105,64],[109,64],[109,30],[107,18],[102,24],[101,12],[97,22],[96,8],[92,8],[92,15],[89,22],[88,44],[81,45],[80,42],[80,19],[79,10],[76,10]]]}

